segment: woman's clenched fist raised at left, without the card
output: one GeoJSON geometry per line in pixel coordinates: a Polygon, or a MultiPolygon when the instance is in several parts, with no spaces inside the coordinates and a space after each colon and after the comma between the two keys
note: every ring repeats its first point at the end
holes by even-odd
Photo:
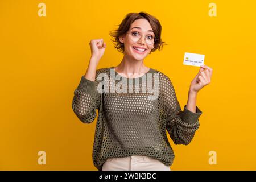
{"type": "Polygon", "coordinates": [[[90,52],[92,53],[91,60],[96,61],[96,66],[98,65],[98,61],[100,61],[101,57],[104,55],[106,43],[103,39],[92,39],[90,40],[90,52]]]}

